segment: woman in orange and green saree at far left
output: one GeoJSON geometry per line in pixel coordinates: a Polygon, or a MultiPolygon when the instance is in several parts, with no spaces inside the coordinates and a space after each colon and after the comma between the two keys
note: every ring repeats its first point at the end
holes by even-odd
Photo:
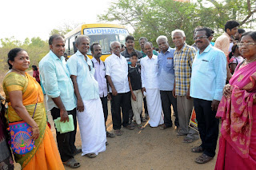
{"type": "Polygon", "coordinates": [[[14,159],[22,165],[22,169],[64,169],[47,125],[41,86],[25,72],[30,65],[28,54],[24,49],[11,49],[8,65],[10,71],[2,83],[8,102],[6,118],[9,122],[26,121],[32,127],[31,138],[35,145],[31,152],[24,155],[14,153],[14,159]]]}

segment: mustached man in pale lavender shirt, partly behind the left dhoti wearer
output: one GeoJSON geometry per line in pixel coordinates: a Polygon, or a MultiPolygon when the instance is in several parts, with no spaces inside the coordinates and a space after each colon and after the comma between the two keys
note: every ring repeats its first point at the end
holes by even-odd
{"type": "MultiPolygon", "coordinates": [[[[102,101],[103,113],[105,118],[105,127],[106,127],[106,120],[108,116],[108,109],[107,109],[107,101],[108,98],[111,99],[110,93],[107,91],[107,83],[106,83],[106,69],[103,61],[100,57],[102,57],[102,47],[99,43],[94,43],[90,45],[90,51],[93,56],[91,61],[93,62],[95,73],[94,77],[95,80],[98,81],[98,93],[99,97],[102,101]]],[[[111,132],[106,131],[106,137],[114,137],[114,134],[111,132]]]]}

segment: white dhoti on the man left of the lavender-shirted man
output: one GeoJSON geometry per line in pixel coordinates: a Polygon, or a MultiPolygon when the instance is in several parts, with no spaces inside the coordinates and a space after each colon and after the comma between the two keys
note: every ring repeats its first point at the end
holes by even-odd
{"type": "Polygon", "coordinates": [[[85,109],[77,111],[78,124],[82,140],[82,156],[87,153],[95,153],[106,150],[106,128],[102,101],[93,99],[83,101],[85,109]]]}

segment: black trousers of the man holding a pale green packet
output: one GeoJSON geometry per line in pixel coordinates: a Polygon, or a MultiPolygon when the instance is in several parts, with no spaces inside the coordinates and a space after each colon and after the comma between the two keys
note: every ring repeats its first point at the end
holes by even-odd
{"type": "MultiPolygon", "coordinates": [[[[51,116],[54,119],[57,119],[60,117],[60,109],[53,108],[50,110],[51,116]]],[[[74,158],[73,153],[76,151],[76,147],[74,145],[75,141],[75,135],[77,133],[77,117],[76,117],[76,109],[73,109],[71,111],[67,111],[69,115],[73,116],[74,120],[74,131],[72,132],[65,132],[60,133],[56,130],[56,138],[57,138],[57,144],[58,144],[58,151],[61,155],[62,162],[66,162],[67,160],[70,160],[71,158],[74,158]]],[[[56,128],[55,128],[56,129],[56,128]]]]}

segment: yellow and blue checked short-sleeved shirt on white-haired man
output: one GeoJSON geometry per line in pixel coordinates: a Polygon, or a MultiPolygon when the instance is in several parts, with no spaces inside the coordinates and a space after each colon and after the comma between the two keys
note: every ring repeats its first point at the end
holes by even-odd
{"type": "Polygon", "coordinates": [[[174,52],[175,94],[177,96],[186,96],[190,87],[192,63],[196,53],[196,49],[186,43],[182,49],[176,49],[174,52]]]}

